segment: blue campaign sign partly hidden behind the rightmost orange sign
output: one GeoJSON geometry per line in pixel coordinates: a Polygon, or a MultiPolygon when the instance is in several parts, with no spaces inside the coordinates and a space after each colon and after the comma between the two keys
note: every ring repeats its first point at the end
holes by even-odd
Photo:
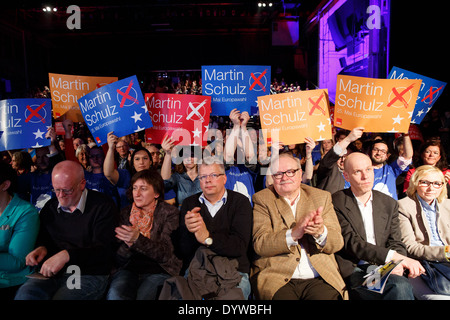
{"type": "Polygon", "coordinates": [[[433,107],[436,100],[444,91],[447,83],[431,79],[420,74],[393,67],[389,73],[389,79],[420,79],[422,86],[417,96],[416,106],[411,116],[411,123],[420,124],[425,115],[433,107]]]}

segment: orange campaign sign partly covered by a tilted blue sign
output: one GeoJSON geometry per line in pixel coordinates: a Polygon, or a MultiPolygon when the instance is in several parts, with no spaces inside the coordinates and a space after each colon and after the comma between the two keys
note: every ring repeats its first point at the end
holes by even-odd
{"type": "Polygon", "coordinates": [[[83,122],[83,116],[78,106],[78,99],[86,94],[116,82],[117,77],[90,77],[67,74],[48,74],[52,96],[53,118],[70,119],[83,122]]]}

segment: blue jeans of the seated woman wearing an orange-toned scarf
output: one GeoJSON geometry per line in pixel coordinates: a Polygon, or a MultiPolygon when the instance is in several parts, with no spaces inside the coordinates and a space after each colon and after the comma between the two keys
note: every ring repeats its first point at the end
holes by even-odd
{"type": "Polygon", "coordinates": [[[168,274],[137,274],[119,270],[112,276],[107,300],[156,300],[168,274]]]}

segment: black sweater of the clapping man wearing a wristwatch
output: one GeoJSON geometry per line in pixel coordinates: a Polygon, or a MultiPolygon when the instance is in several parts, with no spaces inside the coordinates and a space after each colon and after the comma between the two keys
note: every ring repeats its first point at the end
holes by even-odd
{"type": "Polygon", "coordinates": [[[187,211],[200,207],[200,214],[213,239],[210,249],[220,256],[238,259],[238,271],[250,272],[249,250],[253,210],[247,197],[232,190],[227,190],[227,192],[227,201],[214,218],[209,214],[206,205],[199,201],[201,193],[192,195],[183,201],[180,213],[179,249],[183,256],[184,268],[189,265],[195,251],[201,245],[195,235],[187,230],[184,217],[187,211]]]}

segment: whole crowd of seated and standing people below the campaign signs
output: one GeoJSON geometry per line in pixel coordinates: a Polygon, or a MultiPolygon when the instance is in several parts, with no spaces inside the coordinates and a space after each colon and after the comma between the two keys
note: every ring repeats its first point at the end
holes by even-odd
{"type": "Polygon", "coordinates": [[[232,110],[204,148],[98,147],[65,120],[49,147],[2,152],[0,296],[449,299],[424,267],[450,258],[446,130],[267,146],[250,120],[232,110]],[[382,294],[362,285],[390,261],[382,294]]]}

